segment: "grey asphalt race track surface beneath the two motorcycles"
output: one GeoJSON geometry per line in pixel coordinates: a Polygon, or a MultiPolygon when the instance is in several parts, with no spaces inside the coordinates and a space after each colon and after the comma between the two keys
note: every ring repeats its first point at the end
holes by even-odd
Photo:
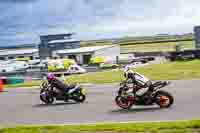
{"type": "Polygon", "coordinates": [[[200,118],[200,80],[172,81],[163,88],[173,94],[171,108],[138,106],[122,110],[114,103],[117,84],[91,85],[82,104],[56,101],[45,105],[37,89],[9,89],[0,94],[0,125],[82,124],[96,122],[163,121],[200,118]]]}

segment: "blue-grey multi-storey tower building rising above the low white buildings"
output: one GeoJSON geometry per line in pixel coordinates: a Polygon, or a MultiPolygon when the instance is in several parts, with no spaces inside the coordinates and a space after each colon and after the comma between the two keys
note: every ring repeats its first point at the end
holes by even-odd
{"type": "Polygon", "coordinates": [[[80,41],[72,39],[72,35],[72,33],[69,33],[40,36],[40,58],[52,57],[52,52],[56,50],[80,48],[80,41]]]}

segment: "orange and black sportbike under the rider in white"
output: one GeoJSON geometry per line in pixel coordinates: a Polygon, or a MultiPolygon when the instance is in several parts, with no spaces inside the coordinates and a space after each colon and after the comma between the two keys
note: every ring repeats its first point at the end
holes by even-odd
{"type": "Polygon", "coordinates": [[[130,88],[127,82],[122,82],[115,102],[122,109],[130,109],[133,105],[149,106],[154,104],[159,105],[160,108],[169,108],[173,104],[174,98],[169,92],[160,90],[169,84],[170,82],[167,81],[157,81],[152,83],[143,95],[138,96],[137,91],[143,86],[135,84],[130,88]]]}

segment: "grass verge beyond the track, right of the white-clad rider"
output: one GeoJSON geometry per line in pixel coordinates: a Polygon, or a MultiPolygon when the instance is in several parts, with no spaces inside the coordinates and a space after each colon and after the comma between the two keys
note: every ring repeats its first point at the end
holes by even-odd
{"type": "Polygon", "coordinates": [[[200,60],[154,64],[136,69],[153,80],[200,79],[200,60]]]}

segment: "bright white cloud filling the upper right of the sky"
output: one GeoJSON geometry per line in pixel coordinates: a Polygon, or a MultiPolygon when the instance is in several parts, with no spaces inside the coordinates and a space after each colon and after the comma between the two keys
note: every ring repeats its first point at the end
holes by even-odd
{"type": "Polygon", "coordinates": [[[195,0],[150,0],[137,3],[125,0],[115,16],[96,23],[91,30],[133,35],[192,32],[193,26],[200,23],[199,4],[200,1],[195,0]]]}

